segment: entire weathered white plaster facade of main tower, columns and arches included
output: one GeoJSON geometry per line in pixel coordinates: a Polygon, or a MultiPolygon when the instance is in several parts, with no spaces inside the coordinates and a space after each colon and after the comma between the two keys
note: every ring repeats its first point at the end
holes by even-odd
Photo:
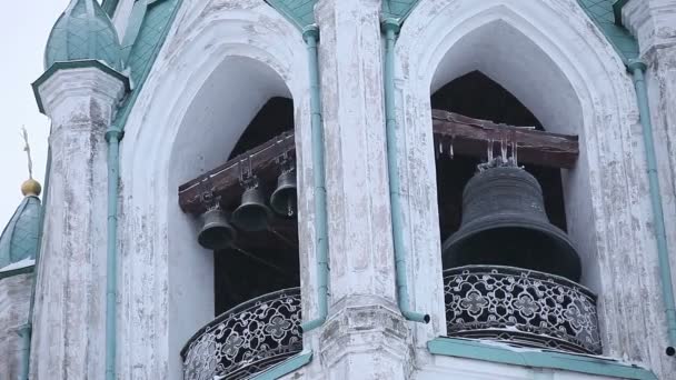
{"type": "MultiPolygon", "coordinates": [[[[120,2],[118,28],[132,2],[120,2]]],[[[471,70],[514,93],[548,130],[580,136],[577,168],[564,173],[566,212],[584,260],[583,282],[599,294],[605,354],[642,362],[664,379],[676,372],[663,356],[665,321],[634,89],[620,59],[575,0],[421,0],[407,19],[396,52],[402,179],[397,191],[405,198],[411,307],[433,322],[401,318],[380,6],[320,0],[315,10],[321,30],[330,309],[322,329],[305,336],[315,359],[286,378],[602,379],[427,351],[427,341],[446,333],[439,250],[446,237],[437,228],[429,97],[471,70]]],[[[676,164],[672,52],[649,56],[649,80],[659,170],[667,176],[660,178],[667,228],[676,231],[676,187],[667,168],[676,164]]],[[[36,379],[103,373],[103,130],[120,86],[95,69],[77,69],[57,72],[40,88],[53,124],[53,166],[38,279],[36,379]]],[[[183,1],[121,146],[120,379],[181,378],[180,349],[215,316],[212,256],[196,242],[196,220],[178,207],[178,186],[225,162],[260,107],[278,96],[294,99],[304,318],[316,316],[315,168],[301,34],[262,0],[183,1]]],[[[676,232],[669,232],[670,247],[674,240],[676,232]]]]}

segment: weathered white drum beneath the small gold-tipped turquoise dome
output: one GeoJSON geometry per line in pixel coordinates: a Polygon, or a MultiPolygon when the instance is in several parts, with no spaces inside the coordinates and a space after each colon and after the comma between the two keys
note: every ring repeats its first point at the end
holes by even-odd
{"type": "Polygon", "coordinates": [[[32,273],[0,279],[0,379],[17,379],[21,360],[18,330],[28,322],[32,273]]]}

